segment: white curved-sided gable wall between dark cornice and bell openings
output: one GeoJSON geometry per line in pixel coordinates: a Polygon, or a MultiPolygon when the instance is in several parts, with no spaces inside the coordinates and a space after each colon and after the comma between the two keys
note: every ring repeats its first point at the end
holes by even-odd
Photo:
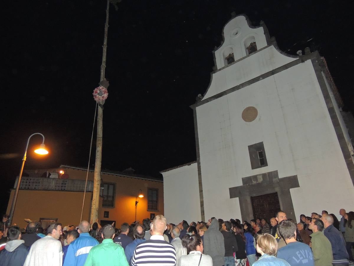
{"type": "MultiPolygon", "coordinates": [[[[243,43],[242,43],[243,45],[243,43]]],[[[227,89],[249,81],[264,73],[296,60],[280,54],[273,45],[233,63],[221,71],[212,74],[212,80],[204,99],[210,98],[227,89]]]]}

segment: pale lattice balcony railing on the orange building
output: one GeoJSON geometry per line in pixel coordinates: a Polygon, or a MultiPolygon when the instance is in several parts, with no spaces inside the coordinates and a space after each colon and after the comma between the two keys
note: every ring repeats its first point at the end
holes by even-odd
{"type": "MultiPolygon", "coordinates": [[[[14,188],[16,188],[17,182],[18,182],[18,177],[16,179],[14,188]]],[[[41,177],[22,177],[20,189],[84,191],[85,190],[85,180],[41,178],[41,177]]],[[[86,191],[93,191],[93,181],[87,181],[86,191]]]]}

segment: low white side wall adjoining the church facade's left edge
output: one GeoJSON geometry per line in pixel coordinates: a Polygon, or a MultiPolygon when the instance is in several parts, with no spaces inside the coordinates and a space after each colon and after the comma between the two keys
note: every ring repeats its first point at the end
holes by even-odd
{"type": "Polygon", "coordinates": [[[197,164],[162,172],[164,215],[168,223],[201,220],[197,164]]]}

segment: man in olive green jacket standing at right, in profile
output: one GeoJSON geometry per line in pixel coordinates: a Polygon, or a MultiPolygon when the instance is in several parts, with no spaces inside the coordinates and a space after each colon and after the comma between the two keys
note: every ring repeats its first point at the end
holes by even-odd
{"type": "Polygon", "coordinates": [[[322,232],[323,222],[319,218],[313,218],[309,224],[312,230],[311,248],[315,266],[332,266],[333,254],[330,240],[322,232]]]}

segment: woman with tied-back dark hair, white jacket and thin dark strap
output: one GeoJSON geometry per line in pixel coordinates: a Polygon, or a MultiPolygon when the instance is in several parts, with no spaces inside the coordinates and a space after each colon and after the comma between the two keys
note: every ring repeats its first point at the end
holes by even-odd
{"type": "Polygon", "coordinates": [[[182,245],[187,248],[187,255],[179,258],[177,266],[213,266],[211,256],[202,254],[203,241],[199,235],[184,235],[182,238],[182,245]]]}

